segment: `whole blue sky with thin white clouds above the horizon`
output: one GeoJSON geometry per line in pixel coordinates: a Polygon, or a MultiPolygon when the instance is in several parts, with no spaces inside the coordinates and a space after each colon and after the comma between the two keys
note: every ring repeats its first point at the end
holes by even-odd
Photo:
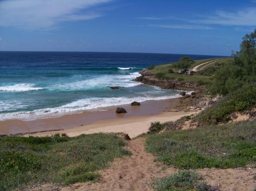
{"type": "Polygon", "coordinates": [[[230,55],[256,0],[0,0],[0,51],[230,55]]]}

